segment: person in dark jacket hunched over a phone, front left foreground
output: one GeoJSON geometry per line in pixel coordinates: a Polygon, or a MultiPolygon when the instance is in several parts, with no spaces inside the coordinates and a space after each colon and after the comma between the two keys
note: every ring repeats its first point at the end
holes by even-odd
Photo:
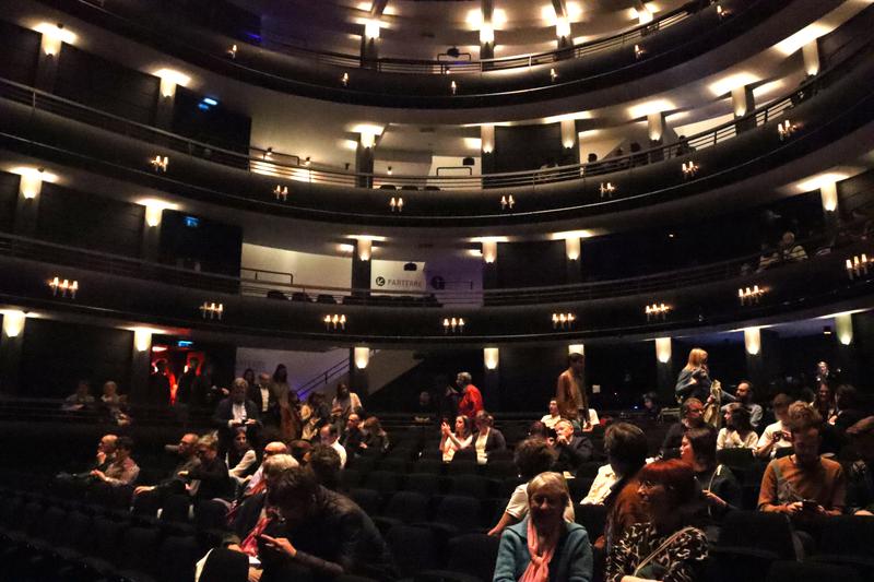
{"type": "Polygon", "coordinates": [[[264,575],[281,580],[291,562],[318,577],[397,578],[388,547],[370,518],[346,497],[318,485],[310,471],[283,472],[270,484],[268,502],[285,521],[275,531],[268,528],[272,535],[261,536],[263,549],[276,556],[264,561],[264,575]]]}

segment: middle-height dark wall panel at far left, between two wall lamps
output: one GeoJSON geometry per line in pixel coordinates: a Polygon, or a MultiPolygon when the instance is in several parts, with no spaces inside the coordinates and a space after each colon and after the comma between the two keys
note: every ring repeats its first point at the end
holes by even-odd
{"type": "Polygon", "coordinates": [[[144,207],[117,200],[43,185],[39,236],[71,245],[139,257],[144,207]]]}

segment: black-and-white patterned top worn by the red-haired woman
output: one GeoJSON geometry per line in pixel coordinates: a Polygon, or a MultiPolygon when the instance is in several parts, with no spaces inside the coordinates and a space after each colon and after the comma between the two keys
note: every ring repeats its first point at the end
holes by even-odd
{"type": "MultiPolygon", "coordinates": [[[[635,570],[670,535],[661,535],[651,523],[636,523],[623,534],[607,557],[606,582],[621,582],[635,570]]],[[[694,582],[707,559],[707,537],[697,528],[681,533],[666,548],[650,560],[647,570],[657,571],[662,582],[694,582]]]]}

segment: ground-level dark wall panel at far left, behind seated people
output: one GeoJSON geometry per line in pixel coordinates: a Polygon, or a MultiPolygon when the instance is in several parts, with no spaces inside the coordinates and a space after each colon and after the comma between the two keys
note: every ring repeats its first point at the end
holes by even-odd
{"type": "Polygon", "coordinates": [[[99,394],[106,380],[128,392],[133,332],[60,321],[28,319],[24,328],[20,394],[61,397],[73,392],[78,379],[92,382],[99,394]]]}

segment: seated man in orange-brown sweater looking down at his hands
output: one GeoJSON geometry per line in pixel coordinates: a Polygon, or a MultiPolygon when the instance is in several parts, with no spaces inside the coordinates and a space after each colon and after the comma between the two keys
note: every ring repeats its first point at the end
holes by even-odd
{"type": "Polygon", "coordinates": [[[823,419],[810,404],[796,402],[789,409],[794,454],[775,459],[765,470],[758,497],[759,511],[795,519],[839,515],[847,484],[840,463],[819,456],[823,419]]]}

